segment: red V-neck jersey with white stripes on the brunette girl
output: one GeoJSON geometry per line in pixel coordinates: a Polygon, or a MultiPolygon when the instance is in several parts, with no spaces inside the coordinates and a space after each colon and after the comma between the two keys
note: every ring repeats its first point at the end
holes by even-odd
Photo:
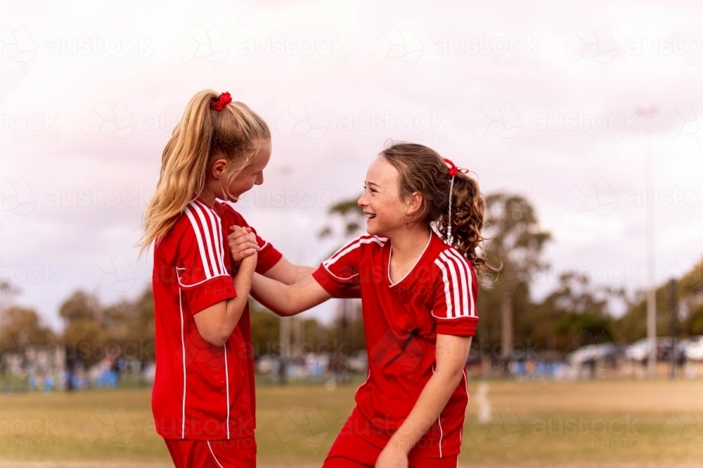
{"type": "MultiPolygon", "coordinates": [[[[363,235],[337,250],[314,272],[331,295],[361,287],[368,377],[356,391],[369,427],[356,428],[379,447],[408,417],[434,373],[437,333],[471,336],[478,314],[478,283],[471,262],[430,235],[406,276],[391,283],[392,248],[385,237],[363,235]]],[[[468,403],[466,374],[437,421],[408,454],[442,457],[460,452],[468,403]]]]}

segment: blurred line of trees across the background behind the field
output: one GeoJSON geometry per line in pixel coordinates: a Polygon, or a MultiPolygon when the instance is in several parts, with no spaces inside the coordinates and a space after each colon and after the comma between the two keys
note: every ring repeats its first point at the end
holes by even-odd
{"type": "MultiPolygon", "coordinates": [[[[320,232],[340,245],[359,234],[365,225],[356,199],[335,204],[330,221],[320,232]]],[[[477,303],[479,326],[475,346],[491,357],[508,358],[515,349],[531,349],[559,356],[589,342],[629,343],[646,336],[645,291],[599,286],[590,275],[562,272],[556,288],[542,300],[534,300],[531,288],[548,271],[543,250],[553,241],[539,225],[536,210],[519,194],[486,196],[486,229],[483,250],[501,271],[480,278],[477,303]],[[626,310],[616,318],[612,304],[626,310]]],[[[675,294],[683,311],[676,317],[679,337],[703,335],[703,260],[676,279],[675,294]]],[[[4,295],[12,286],[0,283],[4,295]]],[[[671,333],[670,287],[657,288],[657,335],[671,333]]],[[[327,325],[315,319],[295,319],[292,342],[299,352],[339,352],[350,355],[363,350],[363,322],[359,304],[340,302],[335,319],[327,325]]],[[[34,309],[8,305],[1,311],[0,352],[22,352],[29,346],[65,345],[67,360],[85,366],[105,356],[153,361],[154,305],[151,288],[134,300],[102,305],[91,292],[77,290],[60,305],[64,328],[54,333],[34,309]]],[[[255,356],[279,354],[280,320],[257,302],[251,303],[252,352],[255,356]]],[[[295,351],[294,347],[294,351],[295,351]]]]}

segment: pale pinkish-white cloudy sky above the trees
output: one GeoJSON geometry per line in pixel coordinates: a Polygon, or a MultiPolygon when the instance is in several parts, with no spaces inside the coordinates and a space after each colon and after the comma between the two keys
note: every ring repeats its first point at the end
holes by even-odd
{"type": "Polygon", "coordinates": [[[271,126],[264,185],[238,209],[295,262],[316,265],[341,242],[318,241],[325,210],[361,192],[387,138],[423,142],[477,173],[484,192],[534,203],[554,236],[537,297],[574,268],[598,286],[646,285],[647,142],[657,281],[701,258],[695,2],[0,8],[1,276],[54,328],[77,288],[109,303],[150,281],[132,245],[170,131],[204,88],[229,91],[271,126]],[[74,41],[86,48],[72,51],[74,41]],[[371,128],[354,125],[366,118],[371,128]]]}

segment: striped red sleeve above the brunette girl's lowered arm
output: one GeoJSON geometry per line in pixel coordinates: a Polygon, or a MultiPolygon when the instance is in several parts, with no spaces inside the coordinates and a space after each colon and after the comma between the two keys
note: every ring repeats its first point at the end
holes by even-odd
{"type": "Polygon", "coordinates": [[[470,262],[448,248],[434,260],[432,316],[441,335],[472,336],[479,321],[476,311],[478,285],[470,262]]]}

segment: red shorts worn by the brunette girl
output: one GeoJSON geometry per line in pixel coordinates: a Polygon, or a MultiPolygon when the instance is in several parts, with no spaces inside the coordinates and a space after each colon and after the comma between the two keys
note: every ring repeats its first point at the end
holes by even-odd
{"type": "MultiPolygon", "coordinates": [[[[322,468],[373,468],[382,447],[373,445],[367,437],[356,434],[352,429],[354,420],[359,413],[354,408],[354,413],[349,416],[347,423],[342,427],[340,435],[330,448],[330,453],[325,458],[322,468]]],[[[456,468],[459,464],[459,454],[448,455],[443,458],[408,457],[408,468],[456,468]]]]}

